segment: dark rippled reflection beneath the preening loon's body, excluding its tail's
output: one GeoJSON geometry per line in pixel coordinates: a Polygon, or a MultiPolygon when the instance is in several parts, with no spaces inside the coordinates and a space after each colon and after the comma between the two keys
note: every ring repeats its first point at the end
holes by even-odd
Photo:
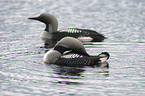
{"type": "Polygon", "coordinates": [[[54,64],[45,64],[54,71],[54,77],[56,81],[53,83],[67,84],[67,85],[79,85],[82,84],[83,72],[82,67],[66,67],[54,64]]]}

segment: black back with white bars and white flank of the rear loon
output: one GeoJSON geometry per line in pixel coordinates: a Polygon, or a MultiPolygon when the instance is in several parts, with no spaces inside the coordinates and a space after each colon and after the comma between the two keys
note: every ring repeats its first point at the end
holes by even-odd
{"type": "MultiPolygon", "coordinates": [[[[58,32],[53,33],[52,38],[56,40],[60,40],[63,37],[70,36],[77,39],[89,39],[91,42],[101,42],[105,39],[105,37],[94,31],[89,29],[79,29],[79,28],[68,28],[64,30],[59,30],[58,32]]],[[[84,41],[82,39],[82,41],[84,41]]]]}

